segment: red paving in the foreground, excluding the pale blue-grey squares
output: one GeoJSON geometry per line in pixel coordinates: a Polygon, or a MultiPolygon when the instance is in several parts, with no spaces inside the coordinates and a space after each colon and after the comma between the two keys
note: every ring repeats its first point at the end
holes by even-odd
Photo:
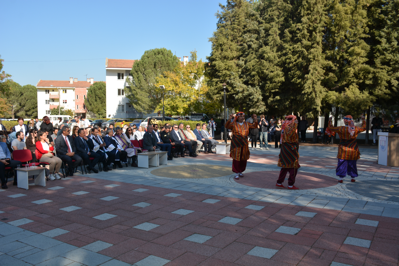
{"type": "MultiPolygon", "coordinates": [[[[255,161],[256,157],[252,159],[255,161]]],[[[322,163],[328,165],[327,162],[322,163]]],[[[275,171],[265,172],[275,174],[275,171]]],[[[249,182],[250,177],[245,178],[240,179],[240,182],[249,182]]],[[[34,222],[20,228],[36,233],[55,228],[68,230],[70,232],[54,239],[77,247],[97,240],[111,243],[113,246],[98,253],[129,264],[154,255],[171,260],[167,266],[329,266],[333,261],[354,266],[398,265],[397,218],[218,197],[78,176],[55,182],[50,185],[62,184],[64,189],[51,191],[42,187],[30,187],[28,191],[23,191],[27,196],[15,199],[7,196],[21,193],[21,190],[10,186],[10,189],[0,194],[3,206],[0,210],[4,211],[0,214],[0,220],[7,219],[2,221],[9,222],[30,218],[34,222]],[[79,183],[84,180],[96,182],[79,183]],[[104,187],[109,184],[120,186],[104,187]],[[132,191],[138,188],[149,191],[132,191]],[[90,193],[71,194],[76,191],[90,193]],[[163,196],[168,193],[179,193],[182,196],[163,196]],[[110,195],[119,199],[100,200],[110,195]],[[201,202],[209,198],[221,201],[215,204],[201,202]],[[53,202],[31,203],[40,199],[50,199],[53,202]],[[152,205],[145,208],[132,206],[138,202],[150,202],[152,205]],[[249,204],[264,208],[259,211],[244,208],[249,204]],[[71,205],[81,209],[72,212],[59,210],[71,205]],[[179,208],[194,212],[187,215],[171,213],[179,208]],[[296,216],[300,210],[317,214],[313,218],[296,216]],[[105,212],[117,217],[105,221],[92,218],[105,212]],[[243,220],[235,225],[218,222],[225,216],[243,220]],[[379,224],[377,227],[355,224],[357,218],[376,220],[379,224]],[[160,226],[150,231],[132,228],[144,222],[160,226]],[[281,225],[301,230],[296,235],[275,232],[281,225]],[[192,234],[204,234],[212,238],[203,244],[184,240],[192,234]],[[372,240],[371,246],[363,248],[343,244],[347,236],[372,240]],[[271,259],[248,255],[247,252],[255,246],[278,252],[271,259]]]]}

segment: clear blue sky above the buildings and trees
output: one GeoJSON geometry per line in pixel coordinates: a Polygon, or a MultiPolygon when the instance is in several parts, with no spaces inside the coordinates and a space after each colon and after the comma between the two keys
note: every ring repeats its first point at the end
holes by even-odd
{"type": "Polygon", "coordinates": [[[218,0],[2,1],[3,70],[21,85],[39,79],[105,81],[105,58],[140,59],[165,47],[206,60],[218,0]],[[61,62],[12,62],[56,61],[61,62]],[[10,61],[10,62],[8,62],[10,61]]]}

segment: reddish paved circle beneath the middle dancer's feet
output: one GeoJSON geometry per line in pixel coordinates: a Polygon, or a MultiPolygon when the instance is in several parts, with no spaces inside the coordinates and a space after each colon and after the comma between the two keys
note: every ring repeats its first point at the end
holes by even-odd
{"type": "MultiPolygon", "coordinates": [[[[249,186],[263,189],[276,189],[276,181],[279,178],[280,171],[261,171],[244,173],[244,177],[235,182],[249,186]]],[[[288,185],[287,173],[283,185],[288,185]]],[[[330,187],[338,184],[338,180],[326,175],[319,175],[315,173],[298,172],[295,178],[295,187],[299,189],[319,189],[322,187],[330,187]]]]}

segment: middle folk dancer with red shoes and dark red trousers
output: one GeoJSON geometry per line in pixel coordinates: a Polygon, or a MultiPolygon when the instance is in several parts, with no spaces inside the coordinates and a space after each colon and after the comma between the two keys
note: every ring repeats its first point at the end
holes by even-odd
{"type": "Polygon", "coordinates": [[[279,154],[278,167],[280,170],[279,179],[277,179],[276,187],[285,189],[282,185],[284,183],[287,172],[290,173],[288,177],[288,189],[298,189],[294,186],[296,173],[298,173],[299,153],[298,153],[298,120],[295,115],[288,115],[286,120],[282,122],[280,144],[281,150],[279,154]]]}

